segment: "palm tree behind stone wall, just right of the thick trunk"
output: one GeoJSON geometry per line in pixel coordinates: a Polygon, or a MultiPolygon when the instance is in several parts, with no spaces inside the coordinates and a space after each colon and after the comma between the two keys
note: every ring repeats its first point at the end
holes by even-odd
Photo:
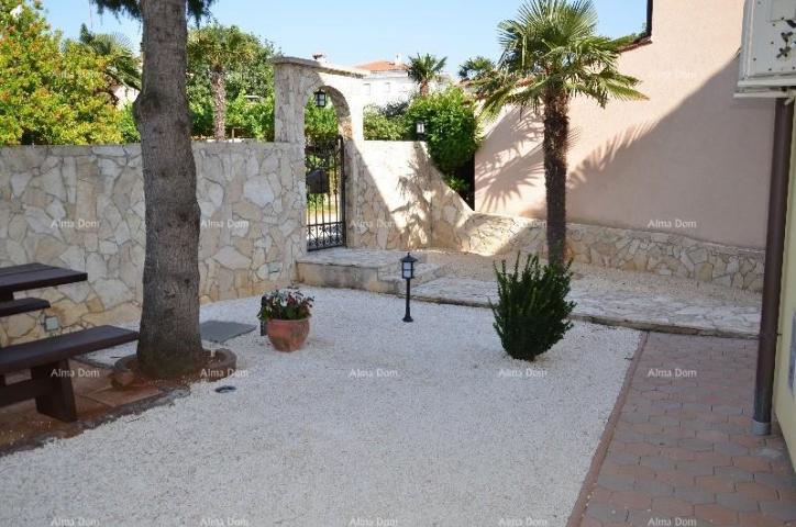
{"type": "Polygon", "coordinates": [[[188,60],[192,65],[201,65],[210,75],[215,141],[224,141],[226,135],[226,75],[254,60],[257,53],[258,46],[253,36],[236,25],[212,24],[194,30],[188,35],[188,60]]]}

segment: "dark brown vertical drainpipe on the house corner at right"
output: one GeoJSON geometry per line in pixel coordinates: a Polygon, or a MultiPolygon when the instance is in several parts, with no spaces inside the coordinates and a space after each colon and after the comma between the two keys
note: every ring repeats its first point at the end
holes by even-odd
{"type": "Polygon", "coordinates": [[[760,321],[758,372],[754,385],[754,418],[752,434],[771,434],[774,370],[780,329],[780,298],[782,293],[782,260],[785,253],[787,192],[791,178],[791,141],[794,105],[784,99],[776,101],[774,121],[774,153],[769,191],[769,227],[765,243],[765,276],[763,278],[763,312],[760,321]]]}

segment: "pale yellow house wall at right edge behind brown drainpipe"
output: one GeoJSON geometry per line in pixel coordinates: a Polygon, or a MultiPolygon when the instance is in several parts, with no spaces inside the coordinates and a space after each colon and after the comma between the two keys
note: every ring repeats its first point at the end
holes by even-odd
{"type": "MultiPolygon", "coordinates": [[[[796,124],[796,123],[795,123],[796,124]]],[[[795,135],[796,137],[796,135],[795,135]]],[[[796,145],[796,141],[793,142],[796,145]]],[[[785,256],[783,261],[782,300],[780,304],[780,343],[774,379],[774,412],[782,427],[783,436],[796,459],[796,396],[789,382],[791,368],[796,357],[791,356],[794,346],[796,324],[796,148],[791,156],[791,186],[788,197],[785,256]]],[[[794,464],[796,468],[796,464],[794,464]]]]}

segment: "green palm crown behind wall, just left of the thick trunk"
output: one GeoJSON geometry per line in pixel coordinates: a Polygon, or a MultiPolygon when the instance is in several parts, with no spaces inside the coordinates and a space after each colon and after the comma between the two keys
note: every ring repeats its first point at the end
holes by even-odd
{"type": "Polygon", "coordinates": [[[112,88],[118,86],[141,91],[141,61],[126,36],[120,33],[92,33],[86,24],[81,24],[77,42],[104,59],[104,74],[111,85],[109,93],[114,101],[117,97],[112,88]]]}

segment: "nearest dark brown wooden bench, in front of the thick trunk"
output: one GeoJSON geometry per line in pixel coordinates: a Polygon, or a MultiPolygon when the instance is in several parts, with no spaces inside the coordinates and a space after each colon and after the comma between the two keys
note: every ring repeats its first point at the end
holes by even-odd
{"type": "Polygon", "coordinates": [[[137,332],[99,326],[0,348],[0,406],[36,400],[36,410],[59,421],[77,421],[69,359],[139,339],[137,332]],[[5,375],[31,371],[31,379],[5,383],[5,375]]]}

